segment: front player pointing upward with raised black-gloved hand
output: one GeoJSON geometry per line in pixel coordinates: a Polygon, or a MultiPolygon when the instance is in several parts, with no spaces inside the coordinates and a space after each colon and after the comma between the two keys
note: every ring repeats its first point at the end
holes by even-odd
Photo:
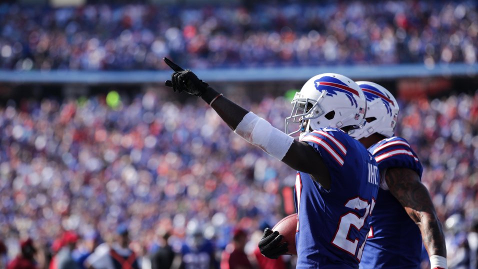
{"type": "MultiPolygon", "coordinates": [[[[166,86],[201,97],[235,133],[297,170],[297,268],[357,268],[379,184],[373,156],[347,134],[364,124],[366,101],[358,85],[334,73],[310,78],[292,100],[285,125],[296,129],[289,135],[192,71],[164,61],[174,70],[166,86]]],[[[276,258],[286,252],[277,231],[266,229],[264,235],[262,254],[276,258]]]]}

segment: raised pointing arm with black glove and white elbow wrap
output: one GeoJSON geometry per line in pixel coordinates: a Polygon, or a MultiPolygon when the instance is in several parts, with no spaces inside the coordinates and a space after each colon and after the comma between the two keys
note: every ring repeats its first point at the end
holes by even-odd
{"type": "Polygon", "coordinates": [[[294,140],[263,118],[227,99],[197,78],[192,71],[183,70],[167,58],[164,61],[174,70],[171,80],[165,82],[166,86],[172,87],[174,91],[200,96],[234,132],[249,143],[296,170],[314,175],[324,187],[330,185],[328,170],[320,155],[310,145],[294,140]]]}

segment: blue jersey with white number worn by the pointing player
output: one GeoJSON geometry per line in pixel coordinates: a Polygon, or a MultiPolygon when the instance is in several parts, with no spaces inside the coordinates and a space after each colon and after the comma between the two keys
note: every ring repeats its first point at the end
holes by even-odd
{"type": "Polygon", "coordinates": [[[302,141],[321,155],[331,185],[325,189],[309,174],[297,172],[297,268],[357,268],[378,191],[376,162],[337,128],[315,130],[302,141]]]}

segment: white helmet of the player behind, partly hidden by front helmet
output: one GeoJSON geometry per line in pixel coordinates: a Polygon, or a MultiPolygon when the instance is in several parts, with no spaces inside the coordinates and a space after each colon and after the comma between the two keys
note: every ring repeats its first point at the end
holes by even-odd
{"type": "Polygon", "coordinates": [[[367,114],[365,126],[361,129],[350,130],[348,134],[355,139],[368,137],[372,133],[379,133],[385,137],[393,136],[398,103],[395,97],[384,87],[369,81],[357,81],[367,99],[367,114]]]}

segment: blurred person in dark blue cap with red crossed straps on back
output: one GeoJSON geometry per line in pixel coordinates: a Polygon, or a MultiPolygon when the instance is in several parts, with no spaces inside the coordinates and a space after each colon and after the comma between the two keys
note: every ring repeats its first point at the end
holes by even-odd
{"type": "Polygon", "coordinates": [[[116,228],[116,240],[108,251],[91,259],[90,268],[94,269],[139,269],[136,254],[129,248],[129,232],[124,224],[116,228]]]}

